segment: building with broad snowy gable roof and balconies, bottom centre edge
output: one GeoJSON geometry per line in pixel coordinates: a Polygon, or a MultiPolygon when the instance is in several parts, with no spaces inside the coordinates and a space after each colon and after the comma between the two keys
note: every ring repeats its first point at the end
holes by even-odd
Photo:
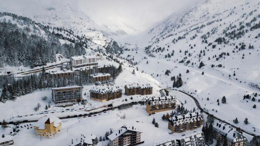
{"type": "Polygon", "coordinates": [[[108,136],[108,146],[137,145],[141,142],[142,131],[132,127],[122,126],[108,136]]]}

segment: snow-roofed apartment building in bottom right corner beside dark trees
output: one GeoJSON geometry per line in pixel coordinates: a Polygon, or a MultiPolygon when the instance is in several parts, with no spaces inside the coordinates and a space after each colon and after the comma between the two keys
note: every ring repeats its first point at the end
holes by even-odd
{"type": "Polygon", "coordinates": [[[243,134],[237,132],[235,128],[230,125],[222,122],[213,125],[213,138],[217,140],[218,137],[220,137],[222,144],[226,138],[229,146],[244,146],[246,145],[246,142],[248,142],[243,134]]]}

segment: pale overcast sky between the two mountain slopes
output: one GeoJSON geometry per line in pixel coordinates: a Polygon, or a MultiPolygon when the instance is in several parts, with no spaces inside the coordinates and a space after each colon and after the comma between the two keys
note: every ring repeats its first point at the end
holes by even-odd
{"type": "Polygon", "coordinates": [[[77,5],[96,22],[108,24],[121,20],[134,29],[144,31],[195,3],[196,0],[80,0],[77,5]]]}

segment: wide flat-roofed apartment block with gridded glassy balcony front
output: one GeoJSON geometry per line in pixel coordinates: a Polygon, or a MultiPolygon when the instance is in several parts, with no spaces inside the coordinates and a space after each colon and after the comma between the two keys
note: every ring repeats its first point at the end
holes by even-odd
{"type": "Polygon", "coordinates": [[[55,104],[82,101],[82,86],[52,88],[52,99],[55,104]]]}

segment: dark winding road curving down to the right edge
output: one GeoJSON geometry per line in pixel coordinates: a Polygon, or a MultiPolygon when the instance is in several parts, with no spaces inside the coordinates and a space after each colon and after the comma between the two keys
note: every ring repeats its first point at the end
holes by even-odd
{"type": "MultiPolygon", "coordinates": [[[[179,92],[181,92],[181,93],[184,93],[184,94],[188,95],[189,97],[191,97],[191,98],[194,100],[194,102],[195,102],[196,106],[198,107],[198,109],[201,110],[202,112],[204,112],[205,114],[211,115],[212,117],[214,117],[214,119],[217,119],[217,120],[219,120],[219,121],[221,121],[221,122],[223,122],[223,123],[226,123],[226,124],[228,124],[228,125],[231,125],[231,126],[234,127],[234,128],[240,128],[240,127],[237,127],[237,126],[235,126],[235,125],[233,125],[233,124],[231,124],[231,123],[229,123],[229,122],[226,122],[225,120],[222,120],[222,119],[220,119],[220,118],[214,116],[213,114],[210,114],[208,111],[205,111],[204,109],[202,109],[202,107],[201,107],[200,104],[199,104],[199,101],[198,101],[194,96],[192,96],[192,95],[189,94],[189,93],[186,93],[186,92],[184,92],[184,91],[177,90],[177,89],[161,89],[161,90],[160,90],[161,96],[165,96],[165,94],[163,93],[163,90],[175,90],[175,91],[179,91],[179,92]]],[[[241,128],[240,128],[240,129],[241,129],[241,128]]],[[[246,131],[246,130],[244,130],[244,129],[241,129],[241,131],[242,131],[242,132],[245,132],[246,134],[249,134],[249,135],[251,135],[251,136],[254,136],[254,137],[259,136],[259,135],[256,135],[256,134],[252,133],[252,132],[246,131]]]]}

